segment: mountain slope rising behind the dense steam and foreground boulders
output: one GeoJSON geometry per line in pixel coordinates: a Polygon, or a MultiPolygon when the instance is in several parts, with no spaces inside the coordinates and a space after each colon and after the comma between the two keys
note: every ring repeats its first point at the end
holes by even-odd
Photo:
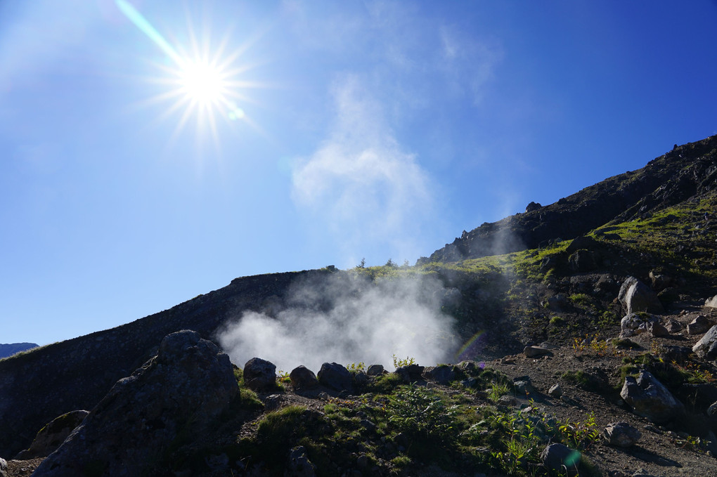
{"type": "Polygon", "coordinates": [[[717,136],[677,147],[641,170],[483,224],[414,267],[244,277],[136,322],[0,360],[0,456],[27,448],[57,415],[92,408],[166,334],[194,329],[215,339],[246,310],[273,316],[292,287],[310,277],[435,276],[445,290],[443,311],[466,342],[456,360],[502,357],[546,339],[569,345],[586,333],[614,336],[622,316],[615,298],[628,275],[667,276],[665,306],[695,307],[715,286],[714,221],[706,224],[703,213],[717,206],[716,150],[717,136]],[[582,246],[558,240],[588,233],[592,240],[582,246]]]}

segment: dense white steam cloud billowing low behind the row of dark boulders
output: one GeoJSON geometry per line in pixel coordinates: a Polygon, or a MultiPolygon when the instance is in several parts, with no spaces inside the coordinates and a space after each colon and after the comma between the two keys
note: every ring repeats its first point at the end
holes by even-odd
{"type": "Polygon", "coordinates": [[[244,312],[218,338],[239,367],[260,357],[285,372],[318,372],[323,362],[390,370],[394,354],[435,365],[455,351],[453,319],[440,311],[444,295],[435,279],[371,282],[340,272],[295,287],[273,317],[244,312]]]}

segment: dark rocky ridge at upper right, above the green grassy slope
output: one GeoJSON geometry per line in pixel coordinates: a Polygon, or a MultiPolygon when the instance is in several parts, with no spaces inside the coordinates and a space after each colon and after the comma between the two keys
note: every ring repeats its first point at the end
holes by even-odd
{"type": "Polygon", "coordinates": [[[717,188],[717,135],[675,145],[632,172],[607,178],[549,206],[531,203],[525,213],[463,232],[418,264],[451,262],[534,249],[568,240],[612,221],[629,221],[717,188]]]}

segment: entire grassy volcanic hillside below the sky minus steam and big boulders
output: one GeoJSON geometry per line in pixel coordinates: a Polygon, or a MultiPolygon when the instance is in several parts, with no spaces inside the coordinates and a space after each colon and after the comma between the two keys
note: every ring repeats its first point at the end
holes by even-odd
{"type": "MultiPolygon", "coordinates": [[[[293,450],[293,461],[310,461],[316,475],[326,476],[466,475],[469,469],[549,475],[540,453],[547,443],[564,443],[582,451],[580,475],[633,475],[640,468],[641,475],[715,475],[708,452],[717,449],[708,441],[716,440],[717,417],[708,409],[717,402],[717,369],[713,355],[700,357],[691,347],[717,322],[706,307],[717,294],[716,211],[713,136],[554,204],[531,204],[526,213],[485,223],[415,266],[236,279],[122,327],[0,360],[0,456],[27,449],[53,418],[92,410],[133,371],[137,379],[148,375],[168,334],[193,329],[219,342],[227,320],[244,312],[279,318],[297,307],[296,291],[307,283],[320,284],[321,293],[300,306],[316,312],[335,306],[324,293],[327,284],[372,296],[385,283],[418,281],[420,301],[435,305],[453,326],[440,337],[416,329],[414,339],[451,347],[445,351],[455,366],[419,369],[410,366],[411,357],[394,356],[399,373],[376,374],[367,373],[368,365],[394,367],[346,362],[350,377],[343,385],[303,390],[273,372],[268,387],[252,390],[236,368],[240,395],[221,420],[198,435],[175,435],[152,471],[283,475],[293,450]],[[628,339],[619,337],[630,334],[621,326],[628,310],[619,294],[630,276],[645,284],[659,309],[637,315],[644,326],[628,339]],[[698,317],[706,323],[700,332],[688,327],[698,317]],[[648,322],[650,332],[642,332],[648,322]],[[526,350],[546,342],[534,350],[539,357],[526,350]],[[657,377],[683,410],[665,419],[635,412],[620,392],[640,371],[657,377]],[[564,388],[564,398],[549,392],[554,384],[564,388]],[[597,433],[616,421],[640,430],[642,440],[625,449],[603,443],[597,433]]],[[[98,415],[90,413],[93,425],[101,424],[98,415]]],[[[19,462],[11,468],[39,463],[19,462]]],[[[107,466],[90,474],[102,475],[107,466]]]]}

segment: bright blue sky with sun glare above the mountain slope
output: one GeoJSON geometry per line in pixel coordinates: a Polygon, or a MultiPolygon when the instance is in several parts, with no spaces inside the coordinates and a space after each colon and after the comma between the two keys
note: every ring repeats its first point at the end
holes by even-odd
{"type": "Polygon", "coordinates": [[[0,1],[0,342],[413,263],[717,133],[715,1],[124,3],[169,50],[122,0],[0,1]]]}

